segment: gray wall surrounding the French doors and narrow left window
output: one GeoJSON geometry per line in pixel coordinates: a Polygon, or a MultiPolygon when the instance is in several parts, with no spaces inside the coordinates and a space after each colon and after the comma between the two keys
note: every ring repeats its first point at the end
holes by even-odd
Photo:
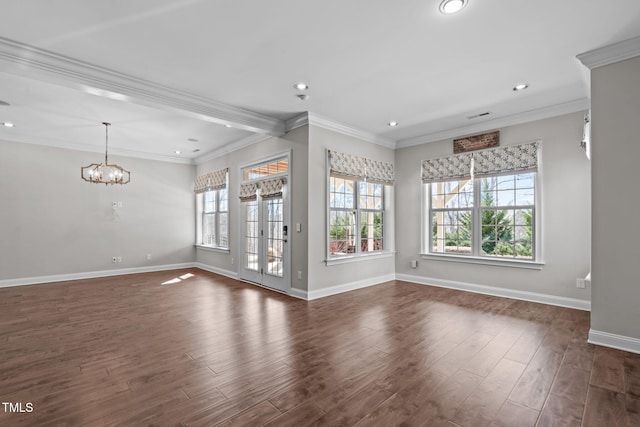
{"type": "MultiPolygon", "coordinates": [[[[309,131],[303,126],[288,132],[280,138],[269,138],[258,144],[217,157],[197,167],[197,175],[229,168],[229,248],[230,253],[218,253],[198,249],[196,261],[205,265],[239,272],[240,200],[238,199],[240,167],[247,163],[291,150],[292,159],[289,171],[288,188],[291,192],[291,232],[289,245],[291,250],[291,287],[307,290],[307,157],[309,131]],[[300,223],[302,231],[295,232],[295,224],[300,223]],[[233,258],[233,263],[232,263],[233,258]],[[301,271],[302,279],[297,272],[301,271]]],[[[194,237],[195,238],[195,237],[194,237]]]]}

